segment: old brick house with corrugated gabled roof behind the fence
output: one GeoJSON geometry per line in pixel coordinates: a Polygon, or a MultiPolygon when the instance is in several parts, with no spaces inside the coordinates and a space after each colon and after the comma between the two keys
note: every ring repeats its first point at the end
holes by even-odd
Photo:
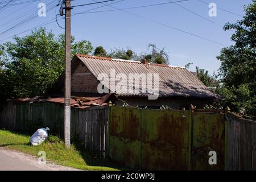
{"type": "MultiPolygon", "coordinates": [[[[115,105],[127,103],[130,106],[152,108],[167,105],[172,109],[182,109],[183,107],[188,109],[191,104],[202,108],[205,104],[212,104],[218,98],[217,94],[210,92],[207,86],[186,68],[152,64],[147,63],[146,60],[139,62],[75,55],[71,61],[71,75],[72,96],[102,97],[110,93],[108,98],[115,105]],[[153,75],[158,75],[158,79],[155,79],[153,75]],[[130,76],[134,76],[134,85],[129,85],[130,76]],[[148,79],[152,81],[151,85],[147,76],[152,76],[151,80],[148,79]],[[126,78],[123,79],[123,77],[126,78]],[[144,81],[144,85],[143,78],[147,80],[144,81]],[[126,86],[120,86],[121,82],[127,83],[126,86]],[[155,84],[156,82],[158,84],[155,84]],[[152,90],[154,90],[154,86],[157,86],[157,99],[148,99],[148,96],[152,95],[152,90],[151,92],[142,92],[143,86],[152,88],[152,90]],[[102,89],[108,92],[102,93],[102,89]]],[[[63,94],[63,91],[64,73],[53,86],[52,94],[63,94]]]]}

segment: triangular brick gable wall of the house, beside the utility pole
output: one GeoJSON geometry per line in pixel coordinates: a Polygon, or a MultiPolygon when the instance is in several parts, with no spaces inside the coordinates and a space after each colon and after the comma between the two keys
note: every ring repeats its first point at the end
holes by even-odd
{"type": "MultiPolygon", "coordinates": [[[[98,80],[90,73],[89,69],[79,63],[71,75],[71,92],[97,93],[98,80]]],[[[64,92],[64,88],[61,89],[64,92]]]]}

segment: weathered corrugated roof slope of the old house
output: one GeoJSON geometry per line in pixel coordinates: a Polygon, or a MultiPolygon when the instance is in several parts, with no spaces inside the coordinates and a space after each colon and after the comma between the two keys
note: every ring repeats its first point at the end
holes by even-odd
{"type": "MultiPolygon", "coordinates": [[[[139,61],[129,61],[121,59],[110,59],[108,57],[97,57],[88,55],[76,55],[73,59],[79,59],[88,67],[89,71],[98,78],[101,73],[106,73],[110,77],[110,70],[114,69],[115,74],[124,73],[156,73],[159,75],[159,96],[184,96],[184,97],[212,97],[217,98],[218,95],[210,92],[193,73],[183,67],[173,67],[166,64],[150,64],[140,63],[139,61]]],[[[154,80],[154,79],[153,79],[154,80]]],[[[115,82],[117,84],[117,82],[115,82]]],[[[109,88],[108,85],[105,85],[109,88]]],[[[154,86],[154,84],[153,84],[154,86]]],[[[133,88],[127,88],[133,89],[133,88]]],[[[147,96],[142,94],[121,93],[121,96],[147,96]]]]}

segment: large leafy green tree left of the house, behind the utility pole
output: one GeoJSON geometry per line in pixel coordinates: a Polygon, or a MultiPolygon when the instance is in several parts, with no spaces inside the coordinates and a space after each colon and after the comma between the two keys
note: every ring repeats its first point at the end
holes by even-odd
{"type": "MultiPolygon", "coordinates": [[[[72,55],[89,54],[90,42],[71,39],[72,55]]],[[[64,71],[64,34],[39,28],[0,46],[0,97],[34,97],[47,92],[64,71]]]]}

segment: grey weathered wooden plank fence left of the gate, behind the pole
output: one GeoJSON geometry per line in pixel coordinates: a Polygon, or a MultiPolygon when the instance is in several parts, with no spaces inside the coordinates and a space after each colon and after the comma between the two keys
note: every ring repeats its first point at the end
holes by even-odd
{"type": "MultiPolygon", "coordinates": [[[[7,102],[0,112],[0,129],[22,131],[32,135],[40,127],[50,134],[64,137],[64,106],[52,102],[14,104],[7,102]]],[[[108,148],[108,106],[71,109],[71,140],[87,151],[105,158],[108,148]]]]}

